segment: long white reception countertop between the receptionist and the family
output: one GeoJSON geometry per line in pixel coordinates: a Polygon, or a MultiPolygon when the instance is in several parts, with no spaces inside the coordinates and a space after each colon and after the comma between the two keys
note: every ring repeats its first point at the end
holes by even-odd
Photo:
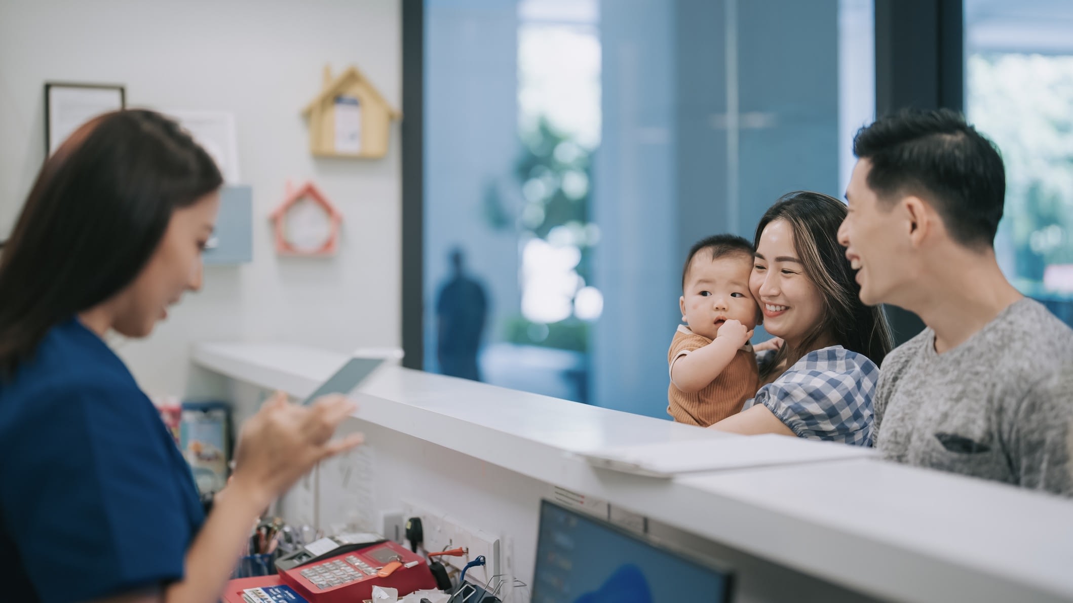
{"type": "MultiPolygon", "coordinates": [[[[347,356],[206,343],[193,359],[304,397],[347,356]]],[[[640,477],[570,453],[738,437],[394,366],[355,397],[358,418],[881,598],[1073,601],[1073,501],[870,459],[640,477]]]]}

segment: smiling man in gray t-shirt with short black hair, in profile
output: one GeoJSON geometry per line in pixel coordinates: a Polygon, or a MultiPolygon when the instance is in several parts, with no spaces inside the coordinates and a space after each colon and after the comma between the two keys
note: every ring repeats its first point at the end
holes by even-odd
{"type": "Polygon", "coordinates": [[[997,149],[949,111],[857,132],[839,241],[861,299],[927,328],[880,367],[887,459],[1073,497],[1073,330],[999,269],[997,149]]]}

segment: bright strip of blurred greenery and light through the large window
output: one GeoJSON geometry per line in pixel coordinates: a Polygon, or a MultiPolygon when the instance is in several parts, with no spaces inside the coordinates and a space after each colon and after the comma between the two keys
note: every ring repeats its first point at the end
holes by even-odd
{"type": "Polygon", "coordinates": [[[511,343],[587,353],[589,323],[603,310],[590,284],[600,241],[590,218],[600,53],[593,26],[534,20],[518,29],[521,305],[504,325],[511,343]]]}

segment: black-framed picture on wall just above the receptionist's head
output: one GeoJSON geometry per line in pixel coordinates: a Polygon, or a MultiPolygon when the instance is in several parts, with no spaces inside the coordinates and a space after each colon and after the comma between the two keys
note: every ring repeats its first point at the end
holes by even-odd
{"type": "Polygon", "coordinates": [[[112,84],[45,83],[45,155],[90,119],[127,106],[127,91],[112,84]]]}

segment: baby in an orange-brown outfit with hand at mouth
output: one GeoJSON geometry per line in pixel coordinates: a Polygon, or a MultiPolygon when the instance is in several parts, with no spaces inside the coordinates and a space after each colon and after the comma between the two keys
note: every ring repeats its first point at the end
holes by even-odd
{"type": "Polygon", "coordinates": [[[671,341],[667,413],[707,427],[741,411],[756,395],[760,376],[749,339],[760,305],[749,291],[753,248],[734,235],[716,235],[689,250],[681,276],[681,320],[671,341]]]}

